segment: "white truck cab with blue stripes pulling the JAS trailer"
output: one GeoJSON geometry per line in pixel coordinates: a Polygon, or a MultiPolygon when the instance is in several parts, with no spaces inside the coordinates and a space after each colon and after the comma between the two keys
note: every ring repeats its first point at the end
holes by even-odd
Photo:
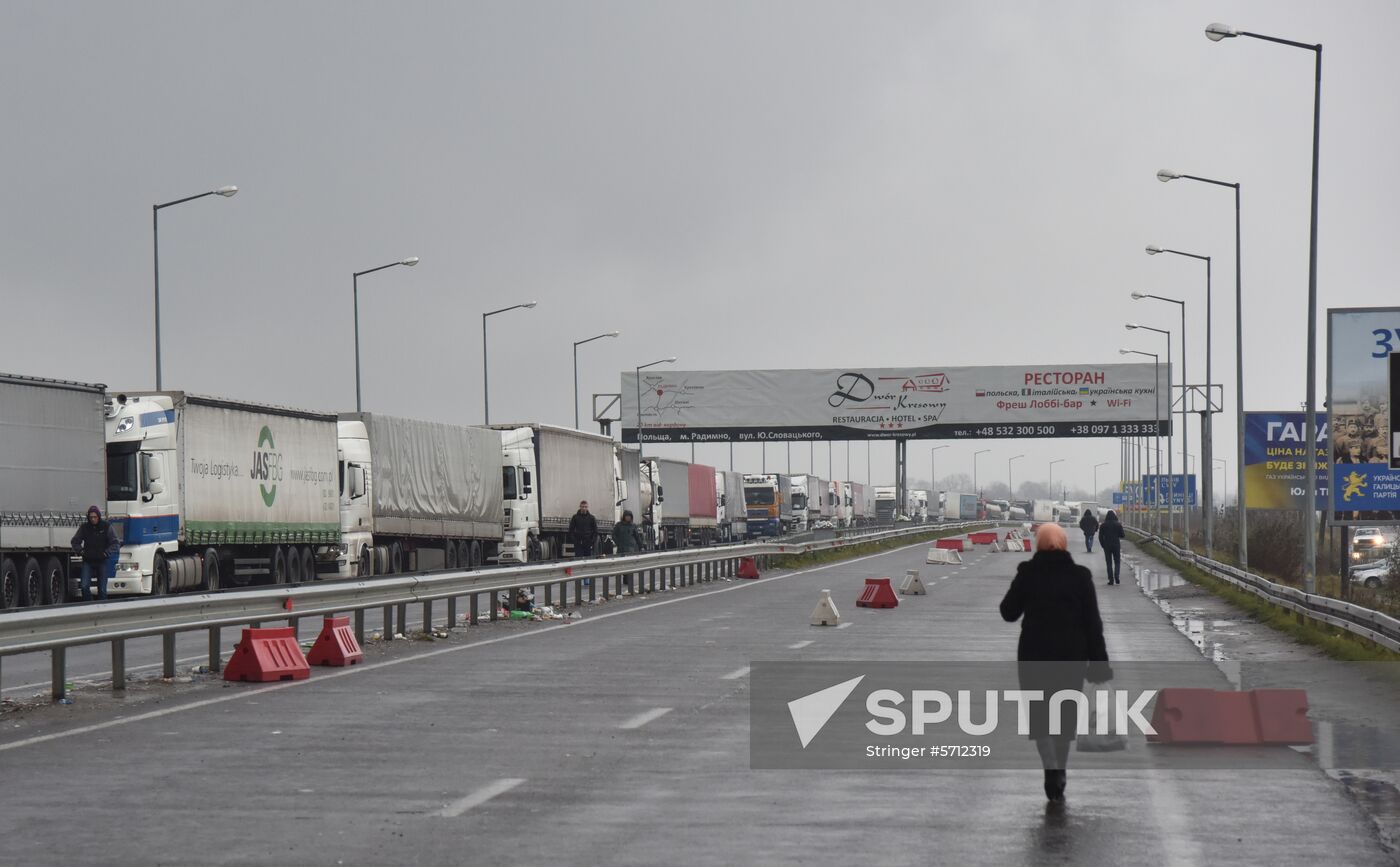
{"type": "Polygon", "coordinates": [[[105,416],[106,518],[122,541],[108,592],[164,591],[155,581],[157,562],[181,548],[179,486],[168,483],[176,459],[175,403],[168,395],[115,395],[105,416]]]}

